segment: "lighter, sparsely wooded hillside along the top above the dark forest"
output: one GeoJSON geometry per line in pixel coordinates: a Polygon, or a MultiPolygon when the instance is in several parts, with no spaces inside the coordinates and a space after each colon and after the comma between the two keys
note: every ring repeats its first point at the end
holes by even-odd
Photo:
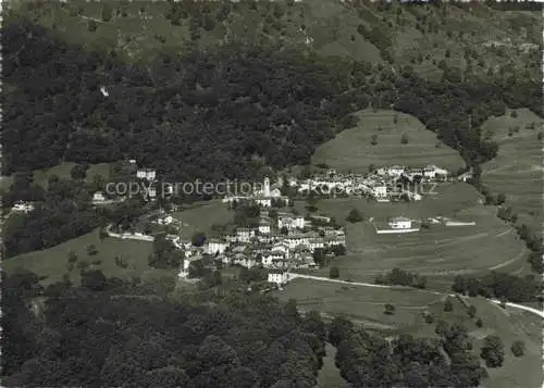
{"type": "Polygon", "coordinates": [[[67,41],[113,49],[132,62],[148,61],[158,51],[237,42],[411,65],[418,74],[438,79],[444,65],[480,76],[533,73],[542,46],[537,7],[500,11],[483,3],[76,0],[13,9],[67,41]]]}

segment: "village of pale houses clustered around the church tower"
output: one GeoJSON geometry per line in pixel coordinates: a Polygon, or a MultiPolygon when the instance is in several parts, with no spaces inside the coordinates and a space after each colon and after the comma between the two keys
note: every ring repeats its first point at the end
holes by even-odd
{"type": "MultiPolygon", "coordinates": [[[[129,160],[128,164],[135,167],[134,177],[137,187],[144,188],[139,193],[147,201],[157,201],[158,192],[165,195],[166,198],[173,193],[173,185],[159,183],[154,170],[136,168],[135,160],[129,160]],[[161,189],[159,185],[162,186],[161,189]]],[[[369,168],[368,174],[343,174],[327,168],[308,177],[277,176],[273,184],[269,177],[264,177],[260,185],[254,185],[255,189],[251,192],[228,193],[220,198],[230,210],[254,211],[256,214],[251,225],[235,224],[230,231],[219,236],[209,238],[202,236],[198,243],[182,238],[181,231],[184,228],[182,220],[176,220],[162,208],[148,221],[159,229],[168,228],[170,233],[166,239],[183,251],[185,260],[178,272],[180,279],[190,277],[189,268],[193,262],[208,258],[224,266],[267,268],[269,283],[280,286],[286,281],[289,271],[318,268],[334,256],[346,253],[345,228],[325,215],[310,212],[306,215],[299,214],[293,206],[295,200],[309,196],[325,198],[360,196],[378,202],[419,201],[424,195],[433,195],[432,189],[429,189],[433,184],[454,179],[467,180],[470,177],[470,171],[454,177],[447,170],[435,165],[421,168],[392,165],[369,168]],[[429,185],[429,188],[421,189],[422,185],[429,185]]],[[[92,203],[107,205],[123,201],[125,198],[126,196],[122,193],[112,196],[111,192],[98,191],[92,196],[92,203]]],[[[22,212],[32,210],[32,203],[16,203],[13,208],[13,211],[22,212]]],[[[441,217],[424,222],[455,224],[452,220],[441,217]]],[[[373,225],[376,234],[406,234],[420,230],[423,224],[421,221],[398,215],[388,218],[386,223],[375,222],[373,225]]],[[[153,236],[144,230],[114,233],[109,227],[107,231],[110,237],[153,241],[153,236]]]]}

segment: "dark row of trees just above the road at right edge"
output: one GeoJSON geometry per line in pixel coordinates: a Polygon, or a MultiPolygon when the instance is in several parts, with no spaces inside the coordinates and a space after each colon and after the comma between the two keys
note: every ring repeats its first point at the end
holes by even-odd
{"type": "Polygon", "coordinates": [[[519,277],[492,271],[481,277],[458,275],[452,290],[470,297],[482,296],[519,303],[540,300],[542,284],[533,275],[519,277]]]}

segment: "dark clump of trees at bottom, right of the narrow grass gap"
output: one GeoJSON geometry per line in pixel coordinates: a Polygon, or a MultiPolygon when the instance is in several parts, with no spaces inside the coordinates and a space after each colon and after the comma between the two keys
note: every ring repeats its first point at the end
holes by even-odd
{"type": "Polygon", "coordinates": [[[337,317],[330,341],[337,346],[336,365],[353,387],[478,387],[487,376],[472,354],[468,330],[460,324],[436,338],[400,335],[393,341],[337,317]]]}

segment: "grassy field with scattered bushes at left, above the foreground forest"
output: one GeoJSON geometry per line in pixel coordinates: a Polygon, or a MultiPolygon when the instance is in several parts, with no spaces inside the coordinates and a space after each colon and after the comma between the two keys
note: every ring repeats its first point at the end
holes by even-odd
{"type": "Polygon", "coordinates": [[[70,273],[70,277],[74,284],[81,280],[79,270],[76,266],[73,271],[67,271],[69,252],[73,251],[77,254],[77,262],[100,261],[100,264],[90,265],[89,268],[101,270],[106,276],[116,276],[128,278],[134,276],[146,276],[146,273],[161,272],[149,268],[148,256],[152,252],[152,245],[147,241],[137,240],[121,240],[114,238],[106,238],[103,241],[98,236],[98,230],[83,235],[70,241],[63,242],[55,247],[24,253],[3,261],[3,270],[8,273],[14,273],[20,270],[28,270],[37,275],[47,276],[41,283],[47,285],[62,280],[65,273],[70,273]],[[95,255],[87,254],[87,246],[95,245],[98,253],[95,255]],[[126,268],[122,268],[115,264],[115,255],[121,256],[127,263],[126,268]]]}

